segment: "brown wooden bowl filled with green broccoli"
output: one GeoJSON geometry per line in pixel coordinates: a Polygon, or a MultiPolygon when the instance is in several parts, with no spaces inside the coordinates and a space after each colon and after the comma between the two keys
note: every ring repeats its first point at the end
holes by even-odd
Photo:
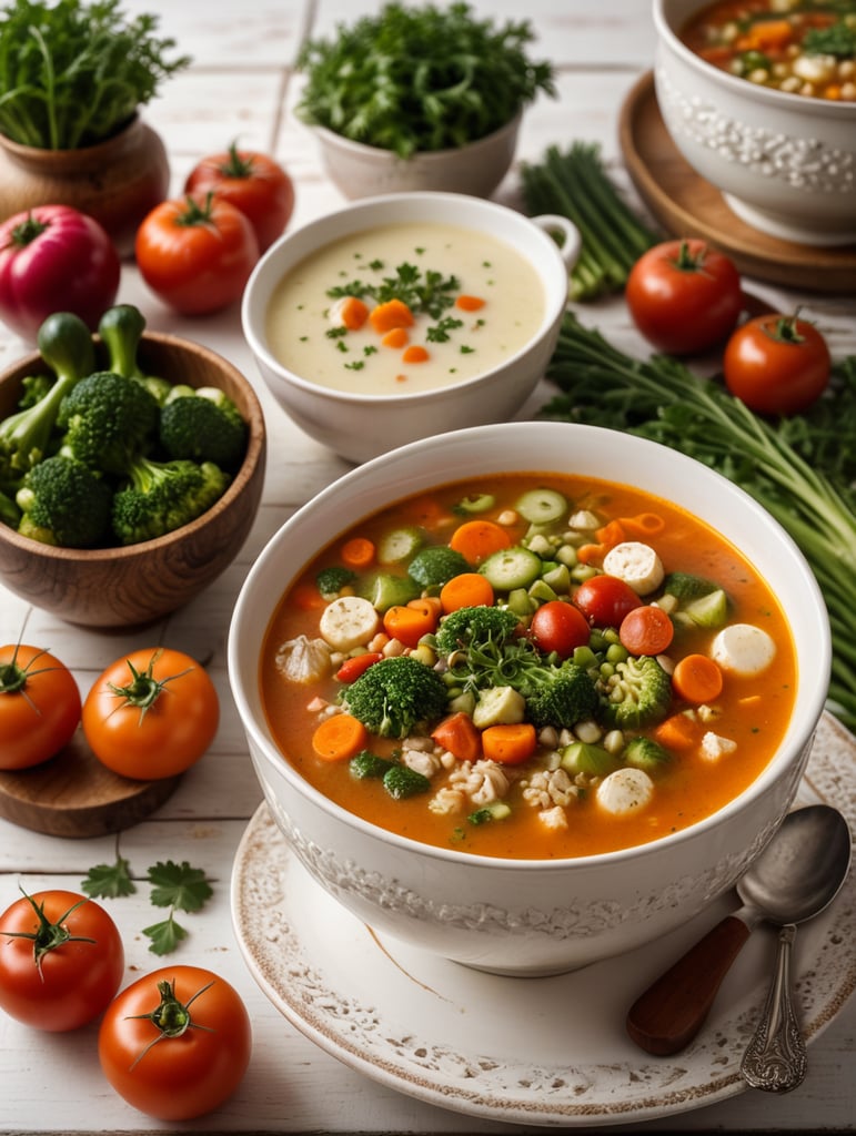
{"type": "Polygon", "coordinates": [[[0,578],[90,627],[149,623],[232,562],[258,510],[261,407],[200,344],[144,332],[130,304],[99,335],[57,314],[0,375],[0,578]]]}

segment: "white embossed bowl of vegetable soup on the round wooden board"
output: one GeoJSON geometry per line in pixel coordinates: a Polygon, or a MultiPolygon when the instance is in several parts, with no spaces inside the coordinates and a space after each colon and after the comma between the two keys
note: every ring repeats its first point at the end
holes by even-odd
{"type": "Polygon", "coordinates": [[[654,74],[666,128],[690,166],[754,228],[809,245],[851,244],[853,15],[832,14],[822,27],[826,17],[797,5],[728,5],[718,19],[725,7],[654,0],[654,74]],[[736,8],[755,10],[742,19],[736,8]],[[690,31],[703,12],[706,27],[690,31]]]}

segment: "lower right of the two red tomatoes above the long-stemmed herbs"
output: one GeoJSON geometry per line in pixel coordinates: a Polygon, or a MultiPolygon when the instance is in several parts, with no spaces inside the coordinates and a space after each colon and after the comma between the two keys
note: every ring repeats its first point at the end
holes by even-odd
{"type": "Polygon", "coordinates": [[[750,410],[796,415],[826,390],[832,369],[826,341],[797,316],[757,316],[725,345],[725,385],[750,410]]]}

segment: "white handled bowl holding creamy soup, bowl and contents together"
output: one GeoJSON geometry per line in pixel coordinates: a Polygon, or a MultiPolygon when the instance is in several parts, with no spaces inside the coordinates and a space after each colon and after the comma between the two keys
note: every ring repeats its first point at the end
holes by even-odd
{"type": "Polygon", "coordinates": [[[297,425],[365,461],[514,417],[555,349],[579,249],[562,217],[458,193],[369,198],[267,251],[244,336],[297,425]]]}

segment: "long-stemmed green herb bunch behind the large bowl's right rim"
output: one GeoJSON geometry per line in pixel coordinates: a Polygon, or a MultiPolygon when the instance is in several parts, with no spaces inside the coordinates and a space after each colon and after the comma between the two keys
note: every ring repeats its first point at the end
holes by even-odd
{"type": "Polygon", "coordinates": [[[631,359],[566,312],[547,377],[560,389],[541,415],[626,431],[710,466],[793,537],[823,592],[832,628],[829,710],[856,728],[856,358],[833,368],[805,415],[757,417],[716,378],[667,356],[631,359]]]}

